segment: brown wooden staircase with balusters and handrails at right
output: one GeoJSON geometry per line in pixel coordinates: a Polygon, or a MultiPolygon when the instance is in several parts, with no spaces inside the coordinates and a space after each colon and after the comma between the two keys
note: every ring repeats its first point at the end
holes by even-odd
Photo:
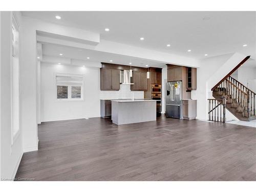
{"type": "Polygon", "coordinates": [[[208,99],[208,116],[211,121],[226,122],[225,110],[227,109],[239,120],[250,121],[256,119],[255,97],[256,94],[244,84],[230,75],[236,71],[247,59],[226,75],[214,88],[211,89],[215,99],[208,99]]]}

